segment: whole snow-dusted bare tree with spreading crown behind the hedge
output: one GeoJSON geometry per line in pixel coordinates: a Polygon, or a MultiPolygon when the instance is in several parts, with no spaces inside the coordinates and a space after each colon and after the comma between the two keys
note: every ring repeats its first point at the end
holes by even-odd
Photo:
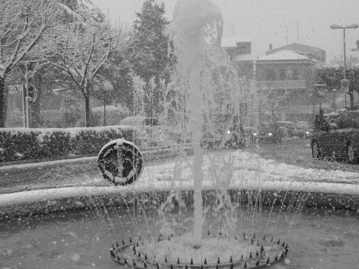
{"type": "Polygon", "coordinates": [[[101,68],[108,68],[111,53],[127,48],[125,28],[106,23],[68,24],[49,38],[44,57],[53,66],[70,75],[85,98],[85,126],[89,127],[90,87],[101,68]]]}

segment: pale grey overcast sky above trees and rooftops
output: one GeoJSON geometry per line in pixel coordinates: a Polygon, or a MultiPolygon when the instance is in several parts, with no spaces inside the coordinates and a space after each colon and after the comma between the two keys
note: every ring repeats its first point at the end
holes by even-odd
{"type": "MultiPolygon", "coordinates": [[[[91,0],[107,13],[112,21],[132,25],[135,12],[142,8],[144,0],[91,0]]],[[[193,0],[195,1],[195,0],[193,0]]],[[[177,0],[164,2],[166,17],[171,20],[177,0]]],[[[359,24],[359,0],[212,0],[220,8],[226,37],[247,37],[252,40],[252,56],[265,55],[269,44],[273,49],[299,43],[318,47],[327,52],[327,61],[343,55],[343,30],[330,29],[329,25],[359,24]],[[298,20],[298,27],[297,27],[298,20]]],[[[359,28],[346,30],[346,55],[352,52],[359,28]]]]}

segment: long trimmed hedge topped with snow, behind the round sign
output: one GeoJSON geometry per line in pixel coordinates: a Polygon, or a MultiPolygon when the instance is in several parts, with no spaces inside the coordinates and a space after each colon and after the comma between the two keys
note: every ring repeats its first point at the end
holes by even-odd
{"type": "Polygon", "coordinates": [[[98,153],[111,140],[133,140],[133,127],[0,128],[0,162],[98,153]]]}

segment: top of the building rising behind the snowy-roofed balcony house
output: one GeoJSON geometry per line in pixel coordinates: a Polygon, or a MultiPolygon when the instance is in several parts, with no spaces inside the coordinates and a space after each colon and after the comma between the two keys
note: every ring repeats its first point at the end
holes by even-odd
{"type": "Polygon", "coordinates": [[[283,50],[294,51],[295,53],[306,56],[309,59],[323,61],[324,63],[326,62],[327,59],[325,50],[304,44],[298,44],[298,43],[289,44],[288,46],[283,46],[276,49],[272,49],[272,45],[270,44],[269,51],[266,51],[266,55],[270,55],[283,50]]]}

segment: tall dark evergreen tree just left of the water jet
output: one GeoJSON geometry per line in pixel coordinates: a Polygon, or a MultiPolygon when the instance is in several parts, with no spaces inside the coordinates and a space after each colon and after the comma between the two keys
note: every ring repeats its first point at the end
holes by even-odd
{"type": "Polygon", "coordinates": [[[174,66],[172,53],[168,57],[168,37],[162,31],[169,24],[164,14],[164,3],[158,5],[154,0],[146,0],[141,12],[136,13],[137,19],[133,24],[133,46],[129,60],[134,73],[146,82],[145,112],[148,116],[161,112],[164,93],[160,81],[165,79],[167,85],[174,66]],[[151,79],[155,81],[155,89],[150,85],[151,79]]]}

